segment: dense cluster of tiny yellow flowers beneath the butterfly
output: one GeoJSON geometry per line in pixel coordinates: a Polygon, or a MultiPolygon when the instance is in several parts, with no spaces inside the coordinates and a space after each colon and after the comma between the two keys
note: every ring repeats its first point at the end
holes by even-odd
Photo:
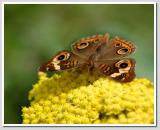
{"type": "Polygon", "coordinates": [[[70,70],[39,81],[22,108],[23,124],[153,124],[154,89],[144,78],[120,83],[96,72],[70,70]]]}

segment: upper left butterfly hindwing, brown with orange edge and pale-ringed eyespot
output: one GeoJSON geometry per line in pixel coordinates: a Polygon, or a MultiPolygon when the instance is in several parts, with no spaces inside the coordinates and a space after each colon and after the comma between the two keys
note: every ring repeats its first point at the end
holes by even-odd
{"type": "Polygon", "coordinates": [[[102,44],[106,44],[108,39],[108,33],[80,39],[72,45],[72,52],[84,59],[88,59],[96,53],[102,44]]]}

